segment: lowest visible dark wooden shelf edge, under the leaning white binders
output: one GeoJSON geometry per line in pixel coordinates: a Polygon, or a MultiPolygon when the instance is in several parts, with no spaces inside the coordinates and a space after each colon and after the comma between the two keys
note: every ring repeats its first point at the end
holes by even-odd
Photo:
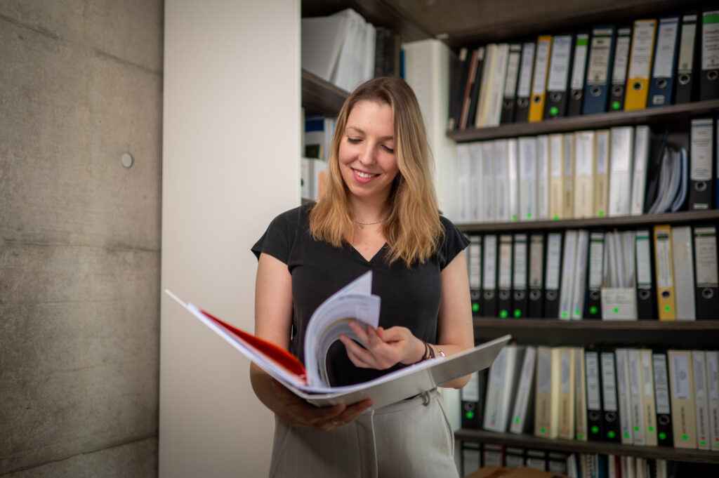
{"type": "Polygon", "coordinates": [[[454,436],[464,441],[480,441],[483,443],[497,443],[569,453],[627,455],[649,459],[719,464],[719,454],[715,451],[677,449],[667,446],[623,445],[621,443],[605,443],[601,441],[574,441],[560,438],[552,440],[528,434],[516,435],[514,433],[497,433],[485,430],[461,429],[455,431],[454,436]]]}

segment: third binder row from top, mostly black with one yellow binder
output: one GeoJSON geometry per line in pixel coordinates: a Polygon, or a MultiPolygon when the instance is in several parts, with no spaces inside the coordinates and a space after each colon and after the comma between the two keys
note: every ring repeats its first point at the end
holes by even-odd
{"type": "Polygon", "coordinates": [[[469,239],[474,316],[719,320],[715,224],[469,239]]]}

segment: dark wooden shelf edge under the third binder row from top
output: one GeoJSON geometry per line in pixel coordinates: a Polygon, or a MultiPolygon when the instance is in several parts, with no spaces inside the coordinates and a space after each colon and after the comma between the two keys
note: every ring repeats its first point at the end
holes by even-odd
{"type": "Polygon", "coordinates": [[[605,330],[605,331],[717,331],[716,321],[560,321],[558,318],[474,318],[475,327],[487,328],[523,328],[532,330],[605,330]]]}

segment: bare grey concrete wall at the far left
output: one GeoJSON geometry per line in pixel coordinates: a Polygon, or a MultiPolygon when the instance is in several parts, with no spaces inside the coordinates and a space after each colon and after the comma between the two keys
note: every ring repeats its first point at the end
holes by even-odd
{"type": "Polygon", "coordinates": [[[0,1],[2,477],[157,475],[162,21],[0,1]]]}

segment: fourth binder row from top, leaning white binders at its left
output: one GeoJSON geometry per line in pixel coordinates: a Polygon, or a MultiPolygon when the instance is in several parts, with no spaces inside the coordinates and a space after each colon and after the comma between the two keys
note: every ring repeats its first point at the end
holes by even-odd
{"type": "Polygon", "coordinates": [[[462,388],[462,428],[719,451],[719,351],[509,345],[462,388]]]}

